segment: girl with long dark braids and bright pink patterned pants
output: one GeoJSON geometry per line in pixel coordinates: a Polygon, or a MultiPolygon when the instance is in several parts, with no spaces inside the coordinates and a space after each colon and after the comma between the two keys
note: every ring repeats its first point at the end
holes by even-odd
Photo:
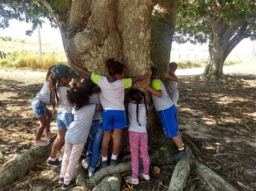
{"type": "Polygon", "coordinates": [[[127,183],[138,185],[139,176],[150,180],[149,153],[147,152],[147,110],[143,91],[133,89],[129,93],[130,103],[127,105],[129,121],[129,139],[132,157],[132,176],[126,179],[127,183]],[[141,103],[144,98],[144,103],[141,103]],[[143,172],[139,173],[139,150],[143,160],[143,172]]]}

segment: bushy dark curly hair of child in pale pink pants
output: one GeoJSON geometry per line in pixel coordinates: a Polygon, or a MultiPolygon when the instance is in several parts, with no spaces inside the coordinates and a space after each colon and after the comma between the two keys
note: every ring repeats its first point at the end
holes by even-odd
{"type": "Polygon", "coordinates": [[[75,111],[78,111],[90,101],[89,95],[82,89],[71,88],[66,92],[68,102],[75,109],[75,111]]]}

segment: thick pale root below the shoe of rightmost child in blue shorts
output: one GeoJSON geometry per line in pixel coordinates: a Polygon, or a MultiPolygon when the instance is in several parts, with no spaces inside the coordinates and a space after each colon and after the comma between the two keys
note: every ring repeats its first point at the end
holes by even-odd
{"type": "Polygon", "coordinates": [[[187,177],[190,175],[190,158],[181,159],[174,168],[169,185],[170,190],[183,190],[186,187],[187,177]]]}

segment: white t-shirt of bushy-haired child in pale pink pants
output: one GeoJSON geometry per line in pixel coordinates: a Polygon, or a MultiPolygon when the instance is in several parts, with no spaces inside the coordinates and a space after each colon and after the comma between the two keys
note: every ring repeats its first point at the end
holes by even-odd
{"type": "Polygon", "coordinates": [[[66,131],[65,141],[72,144],[86,143],[95,114],[96,104],[87,104],[78,111],[72,110],[74,121],[66,131]]]}

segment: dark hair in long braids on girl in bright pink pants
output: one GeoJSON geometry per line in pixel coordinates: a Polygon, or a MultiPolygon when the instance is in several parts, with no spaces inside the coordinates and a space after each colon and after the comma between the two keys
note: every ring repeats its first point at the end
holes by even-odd
{"type": "Polygon", "coordinates": [[[147,103],[146,103],[146,96],[145,93],[143,91],[140,91],[139,89],[133,89],[130,91],[129,93],[130,98],[132,101],[136,101],[136,117],[137,117],[137,122],[139,123],[139,119],[138,119],[138,112],[139,112],[139,104],[142,102],[142,100],[144,99],[144,104],[145,104],[145,108],[146,108],[146,116],[147,116],[147,103]]]}

